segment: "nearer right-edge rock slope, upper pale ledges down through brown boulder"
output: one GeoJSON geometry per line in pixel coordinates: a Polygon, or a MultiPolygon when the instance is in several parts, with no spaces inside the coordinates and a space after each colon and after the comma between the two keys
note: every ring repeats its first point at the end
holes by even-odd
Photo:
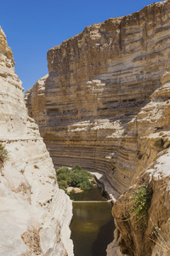
{"type": "Polygon", "coordinates": [[[165,256],[170,253],[169,99],[170,72],[166,72],[161,78],[160,88],[154,91],[150,102],[136,116],[140,148],[136,176],[139,177],[133,179],[133,186],[114,204],[116,240],[109,246],[108,255],[110,251],[114,254],[117,242],[122,253],[127,255],[165,256]],[[149,184],[152,196],[146,227],[142,229],[131,210],[133,195],[144,184],[149,184]]]}

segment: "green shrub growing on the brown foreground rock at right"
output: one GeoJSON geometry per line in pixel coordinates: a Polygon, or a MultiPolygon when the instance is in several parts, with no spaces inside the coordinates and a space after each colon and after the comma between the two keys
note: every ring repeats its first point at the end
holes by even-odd
{"type": "Polygon", "coordinates": [[[148,223],[148,210],[150,208],[151,197],[152,190],[148,183],[140,185],[138,189],[133,191],[133,195],[131,196],[133,201],[129,213],[132,218],[135,218],[135,222],[139,223],[140,227],[144,230],[148,223]]]}

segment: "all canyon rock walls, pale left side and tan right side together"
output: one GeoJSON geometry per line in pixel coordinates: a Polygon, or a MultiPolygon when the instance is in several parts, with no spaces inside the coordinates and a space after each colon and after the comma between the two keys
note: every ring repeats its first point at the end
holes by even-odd
{"type": "Polygon", "coordinates": [[[113,202],[108,256],[170,255],[169,0],[88,26],[47,59],[25,105],[0,29],[0,255],[73,255],[71,200],[54,168],[76,164],[113,202]],[[131,205],[145,188],[141,225],[131,205]]]}

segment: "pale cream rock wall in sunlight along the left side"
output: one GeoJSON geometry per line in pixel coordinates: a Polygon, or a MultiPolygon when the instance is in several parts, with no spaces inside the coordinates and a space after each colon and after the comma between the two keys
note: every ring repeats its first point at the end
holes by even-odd
{"type": "Polygon", "coordinates": [[[73,255],[71,201],[58,188],[53,162],[27,115],[1,28],[0,89],[0,255],[73,255]]]}

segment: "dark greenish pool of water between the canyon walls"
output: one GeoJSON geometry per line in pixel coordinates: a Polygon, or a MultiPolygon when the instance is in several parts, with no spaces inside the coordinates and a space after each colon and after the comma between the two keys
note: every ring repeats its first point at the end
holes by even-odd
{"type": "Polygon", "coordinates": [[[105,256],[115,229],[111,202],[101,195],[99,188],[73,197],[71,239],[75,256],[105,256]]]}

